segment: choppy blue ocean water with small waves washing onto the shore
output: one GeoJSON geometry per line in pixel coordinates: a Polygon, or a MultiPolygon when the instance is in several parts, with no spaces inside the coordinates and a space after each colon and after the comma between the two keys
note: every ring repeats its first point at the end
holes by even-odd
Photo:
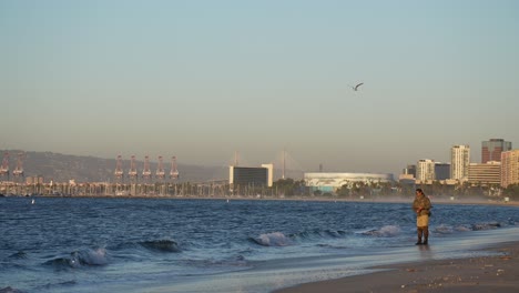
{"type": "Polygon", "coordinates": [[[519,208],[408,203],[0,198],[0,292],[252,292],[469,257],[519,241],[519,208]]]}

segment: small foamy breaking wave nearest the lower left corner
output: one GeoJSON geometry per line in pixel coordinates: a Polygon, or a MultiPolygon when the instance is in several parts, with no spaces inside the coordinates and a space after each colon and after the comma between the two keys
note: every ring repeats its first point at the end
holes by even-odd
{"type": "Polygon", "coordinates": [[[105,249],[74,251],[70,256],[55,257],[47,261],[45,265],[52,265],[55,269],[79,269],[83,265],[105,265],[109,263],[109,256],[105,249]]]}

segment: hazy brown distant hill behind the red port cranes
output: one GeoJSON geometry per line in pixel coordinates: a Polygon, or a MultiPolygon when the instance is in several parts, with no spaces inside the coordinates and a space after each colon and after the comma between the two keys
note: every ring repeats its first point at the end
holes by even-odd
{"type": "MultiPolygon", "coordinates": [[[[9,170],[11,172],[17,165],[17,153],[23,152],[23,170],[26,176],[42,175],[45,182],[68,182],[73,179],[75,182],[113,182],[116,160],[101,159],[94,156],[70,155],[52,152],[30,152],[21,150],[0,150],[0,155],[10,153],[9,170]]],[[[1,159],[0,159],[1,160],[1,159]]],[[[143,161],[136,161],[138,172],[142,173],[143,161]]],[[[123,171],[128,173],[130,160],[123,160],[123,171]]],[[[155,173],[157,163],[151,162],[152,173],[155,173]]],[[[170,173],[170,162],[164,162],[166,174],[170,173]]],[[[180,178],[177,182],[205,182],[211,180],[228,180],[228,166],[201,166],[179,164],[180,178]]],[[[275,180],[279,179],[282,172],[274,171],[275,180]]],[[[299,180],[303,178],[302,171],[286,171],[287,178],[299,180]]]]}

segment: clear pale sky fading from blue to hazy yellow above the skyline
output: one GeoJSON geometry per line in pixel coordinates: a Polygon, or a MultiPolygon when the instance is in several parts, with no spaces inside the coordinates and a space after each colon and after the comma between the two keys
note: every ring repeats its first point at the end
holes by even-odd
{"type": "Polygon", "coordinates": [[[0,150],[398,174],[519,148],[519,1],[0,0],[0,150]]]}

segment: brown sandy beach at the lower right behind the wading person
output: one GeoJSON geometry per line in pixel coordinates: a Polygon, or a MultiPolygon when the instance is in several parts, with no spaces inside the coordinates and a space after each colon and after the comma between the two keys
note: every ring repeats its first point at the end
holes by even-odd
{"type": "Polygon", "coordinates": [[[519,242],[505,243],[489,251],[498,255],[376,266],[373,269],[387,271],[275,292],[518,292],[519,242]]]}

